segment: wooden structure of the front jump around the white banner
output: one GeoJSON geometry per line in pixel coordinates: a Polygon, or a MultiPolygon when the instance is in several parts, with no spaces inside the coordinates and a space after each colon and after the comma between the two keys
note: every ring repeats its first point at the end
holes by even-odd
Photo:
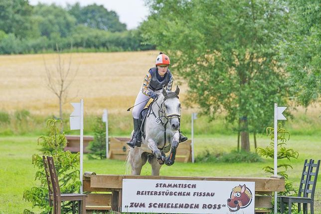
{"type": "Polygon", "coordinates": [[[284,177],[171,177],[171,176],[130,176],[130,175],[96,175],[85,172],[83,191],[87,193],[86,210],[113,210],[121,212],[123,179],[155,180],[197,180],[197,181],[244,181],[255,182],[255,213],[270,213],[272,209],[272,192],[285,190],[284,177]],[[97,193],[98,192],[98,193],[97,193]],[[99,193],[104,192],[104,193],[99,193]],[[108,192],[108,193],[106,193],[108,192]]]}

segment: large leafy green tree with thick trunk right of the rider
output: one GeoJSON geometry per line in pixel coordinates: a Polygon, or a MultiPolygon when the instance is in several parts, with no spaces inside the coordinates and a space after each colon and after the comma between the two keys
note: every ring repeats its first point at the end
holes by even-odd
{"type": "Polygon", "coordinates": [[[241,148],[263,131],[273,103],[286,103],[287,74],[276,58],[288,12],[279,0],[150,0],[142,24],[147,41],[167,51],[188,83],[188,100],[211,119],[238,122],[241,148]]]}

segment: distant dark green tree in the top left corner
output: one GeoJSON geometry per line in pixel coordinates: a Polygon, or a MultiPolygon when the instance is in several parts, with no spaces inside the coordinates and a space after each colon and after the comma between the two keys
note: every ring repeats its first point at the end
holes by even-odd
{"type": "Polygon", "coordinates": [[[27,0],[0,0],[0,30],[18,38],[32,34],[32,6],[27,0]]]}

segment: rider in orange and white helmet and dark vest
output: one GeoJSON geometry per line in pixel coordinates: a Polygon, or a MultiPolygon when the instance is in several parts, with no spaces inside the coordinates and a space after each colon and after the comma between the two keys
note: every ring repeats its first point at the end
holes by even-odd
{"type": "MultiPolygon", "coordinates": [[[[134,135],[132,139],[127,143],[130,147],[140,147],[142,143],[142,135],[140,130],[139,116],[149,101],[149,98],[155,99],[158,93],[162,90],[162,87],[166,87],[167,91],[171,90],[173,84],[173,76],[168,69],[170,65],[169,57],[162,52],[156,58],[156,67],[151,68],[145,76],[143,85],[138,93],[135,101],[135,107],[133,108],[134,119],[134,135]],[[139,104],[140,103],[140,104],[139,104]]],[[[187,137],[182,136],[179,132],[179,142],[184,142],[187,137]]]]}

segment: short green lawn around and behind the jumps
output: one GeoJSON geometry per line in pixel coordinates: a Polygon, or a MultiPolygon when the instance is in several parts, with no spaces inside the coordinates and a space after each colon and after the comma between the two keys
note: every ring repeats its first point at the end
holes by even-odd
{"type": "MultiPolygon", "coordinates": [[[[236,149],[236,135],[199,135],[195,138],[195,155],[205,150],[213,153],[229,152],[236,149]]],[[[251,150],[254,150],[251,140],[251,150]]],[[[257,136],[258,147],[266,147],[270,142],[267,136],[257,136]]],[[[299,152],[299,159],[291,162],[290,180],[299,187],[302,165],[305,159],[320,159],[320,135],[291,136],[288,147],[299,152]]],[[[21,214],[24,209],[31,209],[31,203],[22,200],[23,191],[37,185],[34,175],[37,169],[31,164],[31,155],[41,154],[34,136],[0,137],[0,214],[21,214]]],[[[281,161],[280,161],[281,162],[281,161]]],[[[285,161],[282,161],[285,162],[285,161]]],[[[163,166],[160,175],[164,176],[213,176],[213,177],[267,177],[264,166],[273,166],[273,160],[264,159],[259,163],[175,163],[163,166]]],[[[88,160],[84,157],[84,171],[97,174],[125,174],[125,164],[117,160],[88,160]]],[[[150,165],[145,165],[142,175],[150,175],[150,165]]],[[[320,178],[320,177],[319,177],[320,178]]],[[[320,180],[320,179],[319,179],[320,180]]],[[[321,185],[316,190],[315,211],[321,214],[321,185]]],[[[39,210],[35,210],[39,213],[39,210]]]]}

